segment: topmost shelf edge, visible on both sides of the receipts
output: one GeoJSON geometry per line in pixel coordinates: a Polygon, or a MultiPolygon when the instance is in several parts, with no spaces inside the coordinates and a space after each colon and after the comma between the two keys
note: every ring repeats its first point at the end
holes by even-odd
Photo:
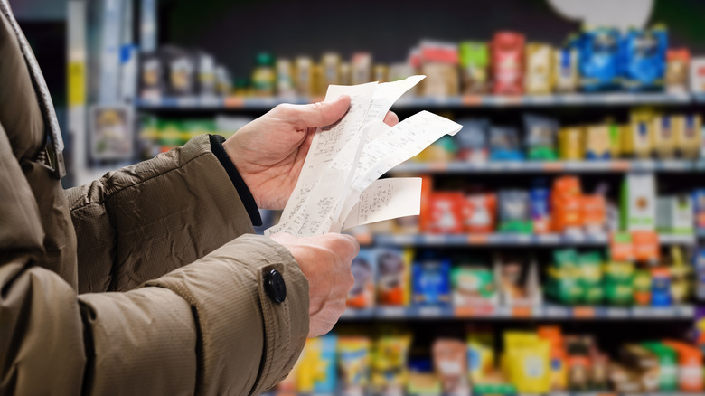
{"type": "MultiPolygon", "coordinates": [[[[279,103],[304,104],[323,98],[239,98],[239,97],[163,97],[136,99],[135,106],[142,109],[205,109],[244,108],[265,110],[279,103]]],[[[447,98],[402,98],[393,108],[503,108],[522,106],[614,106],[631,104],[677,105],[691,103],[689,93],[595,93],[561,94],[543,96],[457,96],[447,98]]]]}

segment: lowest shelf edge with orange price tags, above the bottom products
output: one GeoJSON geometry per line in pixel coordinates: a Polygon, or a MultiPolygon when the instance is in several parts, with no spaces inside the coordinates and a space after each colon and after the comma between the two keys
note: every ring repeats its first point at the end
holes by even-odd
{"type": "Polygon", "coordinates": [[[693,319],[694,306],[378,306],[349,308],[341,319],[556,319],[556,320],[672,320],[693,319]]]}

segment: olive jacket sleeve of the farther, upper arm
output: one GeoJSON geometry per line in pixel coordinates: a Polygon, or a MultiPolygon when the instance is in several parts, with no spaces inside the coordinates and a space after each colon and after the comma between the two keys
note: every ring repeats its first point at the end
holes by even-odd
{"type": "MultiPolygon", "coordinates": [[[[67,190],[79,291],[125,291],[252,233],[247,187],[236,189],[211,137],[67,190]]],[[[249,201],[253,202],[251,196],[249,201]]]]}

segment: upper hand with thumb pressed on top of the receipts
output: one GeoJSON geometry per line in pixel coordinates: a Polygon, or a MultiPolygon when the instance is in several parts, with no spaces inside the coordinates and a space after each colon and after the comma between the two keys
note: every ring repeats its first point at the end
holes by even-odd
{"type": "MultiPolygon", "coordinates": [[[[223,143],[260,209],[283,209],[294,191],[316,127],[334,124],[350,108],[350,97],[310,105],[282,104],[223,143]]],[[[399,122],[389,112],[387,125],[399,122]]]]}

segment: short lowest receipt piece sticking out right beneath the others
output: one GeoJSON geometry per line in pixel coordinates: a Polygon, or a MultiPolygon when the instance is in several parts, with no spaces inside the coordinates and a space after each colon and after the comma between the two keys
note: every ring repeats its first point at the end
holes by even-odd
{"type": "Polygon", "coordinates": [[[343,222],[343,230],[371,222],[415,216],[420,211],[420,177],[381,179],[362,192],[360,201],[343,222]]]}

